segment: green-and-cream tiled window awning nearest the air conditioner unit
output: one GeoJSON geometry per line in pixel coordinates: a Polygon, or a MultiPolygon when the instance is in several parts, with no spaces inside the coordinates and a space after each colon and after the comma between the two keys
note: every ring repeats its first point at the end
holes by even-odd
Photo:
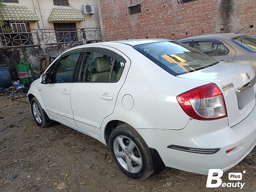
{"type": "Polygon", "coordinates": [[[82,12],[75,9],[53,8],[48,22],[54,21],[85,21],[82,12]]]}

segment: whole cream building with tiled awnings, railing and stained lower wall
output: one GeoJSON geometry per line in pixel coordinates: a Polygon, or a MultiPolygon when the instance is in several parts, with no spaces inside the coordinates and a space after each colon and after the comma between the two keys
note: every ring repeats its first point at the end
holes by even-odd
{"type": "Polygon", "coordinates": [[[0,66],[8,66],[17,80],[16,65],[24,53],[36,74],[42,60],[49,64],[69,48],[101,41],[98,10],[98,0],[5,0],[0,6],[5,22],[0,27],[0,66]]]}

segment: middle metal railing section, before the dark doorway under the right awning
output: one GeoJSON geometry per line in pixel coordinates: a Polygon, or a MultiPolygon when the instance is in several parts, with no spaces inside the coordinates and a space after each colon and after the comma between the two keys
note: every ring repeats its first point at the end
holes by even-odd
{"type": "Polygon", "coordinates": [[[61,44],[82,42],[79,28],[43,28],[42,34],[45,44],[61,44]]]}

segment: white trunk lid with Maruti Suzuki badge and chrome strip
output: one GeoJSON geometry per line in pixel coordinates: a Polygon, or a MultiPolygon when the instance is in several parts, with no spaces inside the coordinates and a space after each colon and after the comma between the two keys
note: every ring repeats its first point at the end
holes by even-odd
{"type": "Polygon", "coordinates": [[[177,77],[215,83],[223,93],[230,127],[244,120],[254,108],[256,77],[250,66],[220,62],[177,77]]]}

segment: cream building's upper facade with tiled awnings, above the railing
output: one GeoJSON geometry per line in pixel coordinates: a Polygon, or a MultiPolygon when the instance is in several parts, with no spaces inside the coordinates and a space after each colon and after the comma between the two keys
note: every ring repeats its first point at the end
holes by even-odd
{"type": "Polygon", "coordinates": [[[4,20],[14,26],[85,28],[99,26],[97,0],[6,0],[0,8],[4,20]],[[94,14],[83,14],[82,5],[92,4],[94,14]]]}

